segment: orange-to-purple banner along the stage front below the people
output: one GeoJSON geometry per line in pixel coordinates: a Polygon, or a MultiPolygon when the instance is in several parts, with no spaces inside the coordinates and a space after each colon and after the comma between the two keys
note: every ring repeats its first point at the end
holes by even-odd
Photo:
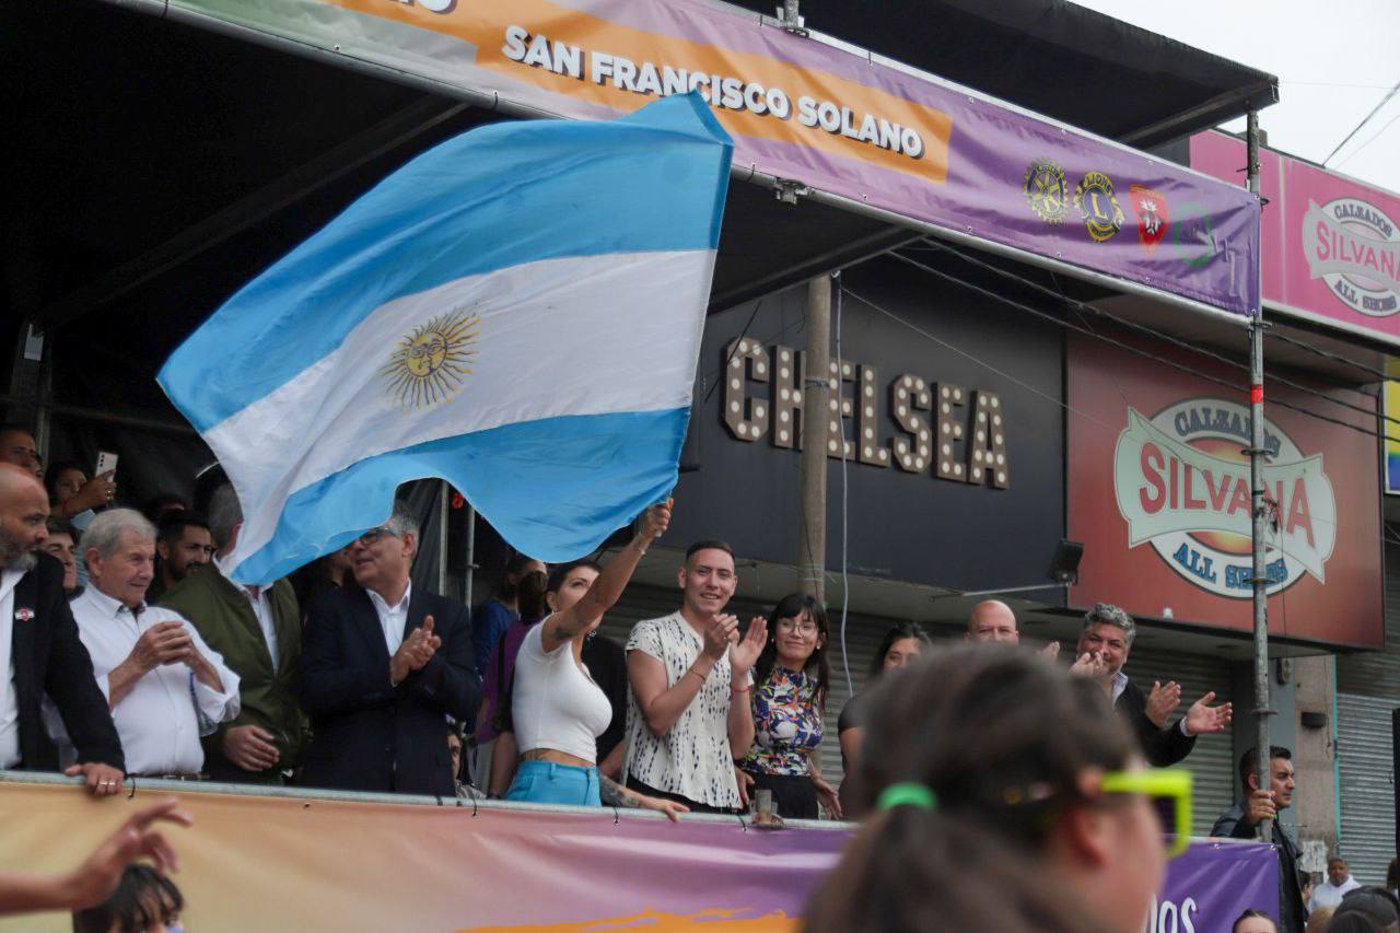
{"type": "MultiPolygon", "coordinates": [[[[0,783],[0,870],[76,866],[162,796],[94,801],[66,783],[0,783]]],[[[195,817],[192,829],[168,832],[190,930],[797,933],[851,834],[738,820],[673,825],[610,808],[176,796],[195,817]]],[[[1273,912],[1274,859],[1264,845],[1193,845],[1170,863],[1151,930],[1225,929],[1246,906],[1273,912]]],[[[69,929],[60,915],[0,920],[0,932],[69,929]]]]}

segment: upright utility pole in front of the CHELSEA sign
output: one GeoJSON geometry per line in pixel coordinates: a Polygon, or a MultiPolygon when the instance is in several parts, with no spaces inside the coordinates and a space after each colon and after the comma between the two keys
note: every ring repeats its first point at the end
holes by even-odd
{"type": "Polygon", "coordinates": [[[806,283],[806,359],[802,367],[802,514],[798,517],[798,588],[826,602],[826,441],[832,366],[832,277],[806,283]]]}

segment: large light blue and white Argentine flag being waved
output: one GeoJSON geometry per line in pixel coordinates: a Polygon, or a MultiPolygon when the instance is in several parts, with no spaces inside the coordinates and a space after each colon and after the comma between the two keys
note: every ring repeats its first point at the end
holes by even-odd
{"type": "Polygon", "coordinates": [[[242,503],[234,577],[344,546],[410,479],[550,562],[664,499],[731,154],[694,94],[483,126],[244,286],[158,375],[242,503]]]}

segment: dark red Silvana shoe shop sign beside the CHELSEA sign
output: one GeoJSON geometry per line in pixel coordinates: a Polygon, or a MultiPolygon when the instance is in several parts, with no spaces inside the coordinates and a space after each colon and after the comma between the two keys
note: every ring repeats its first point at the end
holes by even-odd
{"type": "MultiPolygon", "coordinates": [[[[1198,359],[1190,364],[1232,375],[1198,359]]],[[[1295,395],[1287,387],[1270,391],[1275,401],[1316,403],[1295,395]]],[[[1358,392],[1336,395],[1375,405],[1358,392]]],[[[1249,632],[1249,408],[1211,382],[1089,338],[1070,340],[1065,401],[1068,537],[1084,542],[1070,604],[1113,602],[1140,618],[1249,632]]],[[[1375,429],[1375,415],[1344,417],[1375,429]]],[[[1264,448],[1264,496],[1274,516],[1266,539],[1270,635],[1380,647],[1375,438],[1266,405],[1264,448]]]]}

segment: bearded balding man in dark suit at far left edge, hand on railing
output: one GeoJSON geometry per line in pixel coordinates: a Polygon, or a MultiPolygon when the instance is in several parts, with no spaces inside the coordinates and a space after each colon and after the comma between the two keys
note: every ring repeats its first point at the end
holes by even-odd
{"type": "Polygon", "coordinates": [[[35,553],[49,532],[49,496],[34,474],[0,464],[0,769],[57,770],[39,705],[57,706],[94,796],[120,792],[126,762],[92,658],[63,591],[63,565],[35,553]],[[10,677],[14,671],[14,677],[10,677]]]}

